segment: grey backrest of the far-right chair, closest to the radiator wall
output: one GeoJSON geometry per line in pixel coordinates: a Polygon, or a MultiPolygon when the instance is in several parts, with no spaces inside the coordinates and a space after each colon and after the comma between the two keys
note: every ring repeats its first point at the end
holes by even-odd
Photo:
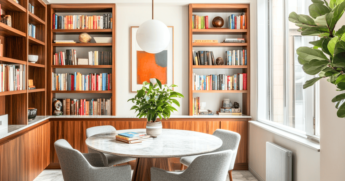
{"type": "Polygon", "coordinates": [[[237,149],[238,149],[241,136],[236,132],[223,130],[223,129],[217,129],[215,132],[213,132],[213,135],[220,138],[223,141],[223,144],[221,145],[221,147],[213,152],[233,150],[233,156],[230,161],[229,170],[234,169],[237,149]]]}

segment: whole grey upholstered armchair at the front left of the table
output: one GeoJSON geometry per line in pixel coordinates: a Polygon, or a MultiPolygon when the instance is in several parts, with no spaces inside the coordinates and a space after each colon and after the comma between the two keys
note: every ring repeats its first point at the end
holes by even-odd
{"type": "Polygon", "coordinates": [[[80,153],[64,139],[54,143],[65,181],[130,181],[130,165],[107,167],[100,154],[80,153]]]}

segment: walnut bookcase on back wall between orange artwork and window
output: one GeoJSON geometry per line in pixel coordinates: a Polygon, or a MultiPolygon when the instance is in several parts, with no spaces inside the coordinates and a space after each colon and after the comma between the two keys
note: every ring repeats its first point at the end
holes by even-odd
{"type": "MultiPolygon", "coordinates": [[[[189,4],[188,11],[188,45],[189,45],[189,115],[193,115],[193,93],[242,93],[242,111],[245,115],[250,115],[250,15],[249,4],[189,4]],[[247,16],[247,29],[228,29],[228,28],[209,28],[209,29],[193,29],[192,18],[195,13],[232,13],[245,12],[247,16]],[[246,43],[193,43],[193,35],[227,35],[232,38],[241,36],[246,43]],[[247,49],[247,65],[244,66],[194,66],[193,65],[193,49],[194,47],[239,47],[247,49]],[[242,69],[242,73],[247,73],[247,90],[193,90],[193,70],[194,69],[242,69]]],[[[209,17],[209,22],[214,17],[209,17]]],[[[226,26],[226,19],[225,26],[226,26]]],[[[209,23],[209,27],[212,24],[209,23]]],[[[207,38],[205,38],[207,39],[207,38]]],[[[205,94],[209,96],[209,94],[205,94]]],[[[221,102],[221,100],[217,100],[221,102]]]]}

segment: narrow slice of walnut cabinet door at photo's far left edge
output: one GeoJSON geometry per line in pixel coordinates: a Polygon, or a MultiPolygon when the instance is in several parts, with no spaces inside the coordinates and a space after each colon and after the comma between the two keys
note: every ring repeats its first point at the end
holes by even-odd
{"type": "Polygon", "coordinates": [[[8,142],[0,145],[0,181],[8,181],[8,142]]]}

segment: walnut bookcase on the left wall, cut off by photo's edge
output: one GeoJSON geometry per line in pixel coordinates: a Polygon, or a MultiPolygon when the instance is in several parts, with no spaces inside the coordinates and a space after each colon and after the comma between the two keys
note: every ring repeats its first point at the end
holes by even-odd
{"type": "Polygon", "coordinates": [[[8,114],[8,124],[28,124],[28,108],[46,115],[46,4],[42,0],[0,0],[1,9],[11,15],[12,27],[0,23],[3,44],[1,64],[26,65],[26,85],[33,80],[36,89],[0,92],[0,114],[8,114]],[[34,13],[28,11],[29,3],[34,13]],[[28,23],[36,26],[36,39],[28,35],[28,23]],[[38,55],[36,63],[28,55],[38,55]]]}

